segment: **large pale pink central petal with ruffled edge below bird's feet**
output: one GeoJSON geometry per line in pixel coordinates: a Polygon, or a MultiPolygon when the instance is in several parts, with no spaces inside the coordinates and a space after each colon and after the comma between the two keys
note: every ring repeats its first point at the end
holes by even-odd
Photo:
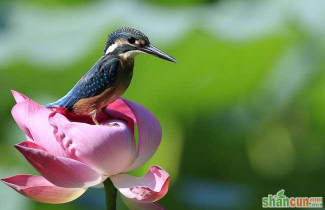
{"type": "Polygon", "coordinates": [[[49,122],[54,127],[56,140],[62,142],[69,156],[78,159],[101,174],[120,173],[134,157],[135,142],[121,120],[108,120],[107,125],[70,122],[60,113],[52,114],[49,122]]]}

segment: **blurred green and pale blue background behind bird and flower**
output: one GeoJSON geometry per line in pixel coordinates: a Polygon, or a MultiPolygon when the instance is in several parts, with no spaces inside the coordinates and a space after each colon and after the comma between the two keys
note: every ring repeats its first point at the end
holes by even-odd
{"type": "MultiPolygon", "coordinates": [[[[10,89],[47,103],[65,94],[120,26],[179,60],[135,58],[123,97],[151,110],[153,158],[171,175],[167,209],[260,209],[261,198],[325,192],[325,1],[17,0],[0,3],[0,176],[37,172],[10,89]]],[[[43,204],[0,183],[0,209],[102,209],[103,189],[43,204]]],[[[119,201],[118,209],[125,209],[119,201]]]]}

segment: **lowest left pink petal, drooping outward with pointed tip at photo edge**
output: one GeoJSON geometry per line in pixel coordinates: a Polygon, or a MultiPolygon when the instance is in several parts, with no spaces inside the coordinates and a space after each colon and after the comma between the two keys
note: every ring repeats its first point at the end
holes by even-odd
{"type": "Polygon", "coordinates": [[[87,188],[63,188],[55,186],[42,176],[18,174],[2,178],[5,184],[20,194],[46,203],[65,203],[79,197],[87,188]]]}

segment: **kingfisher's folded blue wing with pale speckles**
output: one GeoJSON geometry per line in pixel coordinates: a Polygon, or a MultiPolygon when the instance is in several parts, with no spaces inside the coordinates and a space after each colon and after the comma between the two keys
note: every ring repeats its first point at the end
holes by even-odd
{"type": "Polygon", "coordinates": [[[97,62],[65,96],[44,106],[71,108],[78,100],[99,94],[113,83],[119,66],[117,58],[97,62]]]}

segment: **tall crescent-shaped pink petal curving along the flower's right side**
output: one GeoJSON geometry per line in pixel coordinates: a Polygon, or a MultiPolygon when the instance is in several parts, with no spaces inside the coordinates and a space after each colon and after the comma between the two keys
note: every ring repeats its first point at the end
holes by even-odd
{"type": "Polygon", "coordinates": [[[138,128],[136,157],[125,172],[143,165],[153,156],[161,141],[161,127],[157,118],[146,108],[130,100],[122,100],[134,114],[138,128]]]}

